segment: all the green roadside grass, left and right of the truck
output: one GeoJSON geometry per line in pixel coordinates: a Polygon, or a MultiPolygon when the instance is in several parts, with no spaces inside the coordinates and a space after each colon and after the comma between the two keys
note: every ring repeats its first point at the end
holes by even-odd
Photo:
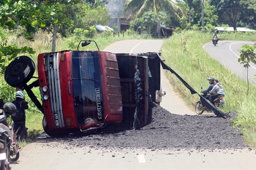
{"type": "MultiPolygon", "coordinates": [[[[11,43],[18,44],[19,46],[30,46],[33,47],[37,52],[32,55],[32,59],[37,64],[37,56],[39,53],[50,52],[51,51],[51,35],[39,32],[35,35],[35,42],[28,43],[27,40],[23,39],[22,36],[17,38],[17,32],[10,34],[9,39],[11,43]]],[[[241,134],[245,137],[247,144],[252,147],[256,147],[256,113],[255,113],[255,102],[256,102],[256,89],[253,84],[250,84],[249,96],[246,95],[247,83],[244,80],[237,78],[233,73],[227,71],[223,65],[219,64],[218,61],[212,59],[209,54],[202,48],[203,45],[211,41],[210,32],[199,32],[199,31],[186,31],[179,34],[174,34],[169,39],[166,39],[162,45],[161,53],[162,59],[165,63],[169,65],[175,72],[177,72],[186,82],[188,82],[197,92],[201,92],[201,86],[206,88],[209,86],[207,77],[215,77],[222,83],[225,90],[226,96],[226,107],[222,110],[227,111],[237,111],[238,115],[233,121],[233,125],[239,127],[241,134]]],[[[241,32],[236,33],[220,33],[219,38],[221,40],[244,40],[244,41],[256,41],[255,34],[241,32]]],[[[77,50],[77,45],[80,40],[88,40],[85,37],[75,37],[71,36],[69,38],[58,38],[56,51],[62,51],[65,49],[77,50]]],[[[100,50],[107,47],[107,45],[127,39],[150,39],[148,35],[138,35],[130,34],[129,36],[125,34],[115,36],[113,35],[98,35],[91,40],[95,40],[98,44],[100,50]]],[[[97,50],[96,45],[92,42],[91,45],[86,47],[79,47],[79,49],[89,49],[97,50]]],[[[241,65],[242,67],[242,65],[241,65]]],[[[35,72],[35,76],[37,71],[35,72]]],[[[170,82],[173,82],[174,77],[170,72],[167,72],[167,77],[170,82]]],[[[176,78],[177,79],[177,78],[176,78]]],[[[7,85],[3,81],[3,76],[0,77],[1,80],[1,95],[6,90],[9,92],[7,85]]],[[[197,94],[191,95],[189,90],[177,79],[177,82],[181,88],[175,88],[177,92],[184,92],[185,99],[190,105],[194,105],[193,101],[198,101],[199,97],[197,94]],[[189,96],[192,99],[186,97],[189,96]],[[192,102],[191,102],[192,101],[192,102]]],[[[9,87],[10,88],[10,87],[9,87]]],[[[14,97],[14,92],[11,95],[14,97]]],[[[37,89],[34,89],[34,93],[39,96],[37,89]]],[[[10,96],[10,94],[9,94],[10,96]]],[[[12,97],[7,99],[11,100],[12,97]]],[[[29,138],[21,143],[21,146],[25,146],[29,143],[35,136],[43,132],[42,128],[42,113],[34,106],[34,104],[27,100],[30,105],[30,109],[26,112],[26,126],[29,128],[29,138]]],[[[5,101],[6,102],[6,101],[5,101]]]]}

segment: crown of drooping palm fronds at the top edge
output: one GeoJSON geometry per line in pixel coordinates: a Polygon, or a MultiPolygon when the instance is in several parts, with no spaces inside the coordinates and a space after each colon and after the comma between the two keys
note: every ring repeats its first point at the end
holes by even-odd
{"type": "Polygon", "coordinates": [[[182,9],[171,0],[126,0],[125,9],[123,13],[132,11],[135,13],[134,18],[139,18],[146,11],[153,11],[159,13],[159,11],[169,11],[178,19],[181,19],[183,15],[182,9]]]}

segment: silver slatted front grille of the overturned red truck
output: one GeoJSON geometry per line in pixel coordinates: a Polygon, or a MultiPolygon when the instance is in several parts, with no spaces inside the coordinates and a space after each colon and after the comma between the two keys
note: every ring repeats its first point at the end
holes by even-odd
{"type": "Polygon", "coordinates": [[[63,121],[61,85],[59,81],[59,53],[50,53],[45,56],[45,70],[47,86],[50,94],[51,114],[55,127],[65,127],[63,121]]]}

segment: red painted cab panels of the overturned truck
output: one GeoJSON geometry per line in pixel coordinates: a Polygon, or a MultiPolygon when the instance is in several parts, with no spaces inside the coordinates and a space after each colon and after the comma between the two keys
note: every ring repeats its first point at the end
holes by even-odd
{"type": "MultiPolygon", "coordinates": [[[[97,126],[101,123],[96,123],[93,121],[89,124],[78,126],[77,118],[75,115],[75,103],[73,95],[73,81],[72,81],[72,52],[74,51],[61,51],[55,52],[57,56],[58,64],[58,74],[59,74],[59,84],[61,94],[61,109],[59,112],[60,117],[58,119],[63,119],[63,126],[56,126],[56,119],[53,113],[53,106],[51,106],[50,89],[47,92],[43,92],[49,99],[43,100],[43,112],[49,126],[50,131],[74,131],[74,130],[85,130],[89,127],[97,126]],[[63,57],[64,56],[64,57],[63,57]],[[62,58],[62,61],[61,61],[62,58]],[[63,60],[64,59],[64,60],[63,60]],[[70,120],[70,123],[69,123],[70,120]]],[[[87,53],[88,51],[79,51],[87,53]]],[[[99,56],[99,67],[101,74],[101,88],[102,88],[102,98],[103,98],[103,119],[105,119],[105,124],[121,123],[122,122],[122,96],[121,96],[121,86],[118,71],[117,59],[113,53],[109,52],[97,52],[99,56]]],[[[39,86],[49,86],[49,80],[47,80],[47,70],[46,70],[46,56],[53,53],[41,53],[38,56],[38,79],[39,86]]],[[[55,77],[57,78],[57,77],[55,77]]],[[[41,92],[42,95],[42,92],[41,92]]],[[[56,96],[57,97],[57,96],[56,96]]],[[[97,113],[95,113],[97,117],[97,113]]],[[[57,115],[57,114],[56,114],[57,115]]]]}

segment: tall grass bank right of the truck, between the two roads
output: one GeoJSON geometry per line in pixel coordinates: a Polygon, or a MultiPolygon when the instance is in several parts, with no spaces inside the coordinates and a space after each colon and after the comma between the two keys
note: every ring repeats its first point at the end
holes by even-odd
{"type": "MultiPolygon", "coordinates": [[[[224,40],[245,40],[256,42],[255,35],[247,34],[219,34],[224,40]]],[[[197,92],[201,92],[201,86],[208,87],[207,77],[218,78],[222,82],[225,90],[226,107],[222,110],[237,111],[237,117],[233,121],[233,125],[241,130],[241,134],[245,136],[246,143],[252,147],[256,147],[256,88],[250,84],[250,94],[247,96],[247,83],[235,76],[232,72],[215,61],[203,49],[203,45],[211,41],[210,33],[202,33],[197,31],[186,31],[180,34],[174,34],[167,39],[162,45],[162,57],[175,72],[177,72],[185,81],[189,83],[197,92]]],[[[241,65],[241,67],[243,67],[241,65]]],[[[173,81],[173,76],[169,74],[169,80],[173,81]]],[[[174,77],[175,78],[175,77],[174,77]]],[[[177,78],[176,78],[177,79],[177,78]]],[[[181,88],[176,88],[177,92],[190,91],[177,80],[181,88]]],[[[186,95],[187,96],[187,95],[186,95]]],[[[197,101],[198,95],[190,96],[197,101]]],[[[185,97],[187,98],[187,97],[185,97]]],[[[188,101],[190,102],[190,101],[188,101]]],[[[195,103],[190,103],[193,105],[195,103]]]]}

